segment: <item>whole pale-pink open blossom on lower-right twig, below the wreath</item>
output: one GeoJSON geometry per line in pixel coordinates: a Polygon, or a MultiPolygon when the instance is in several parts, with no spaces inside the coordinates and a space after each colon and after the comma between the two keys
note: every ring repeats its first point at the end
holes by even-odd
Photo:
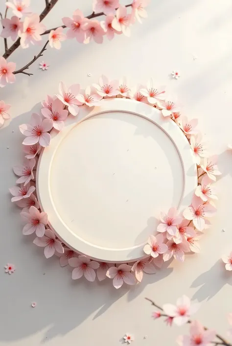
{"type": "Polygon", "coordinates": [[[162,306],[164,314],[172,317],[173,323],[177,325],[185,324],[189,317],[197,312],[199,307],[199,303],[192,304],[186,295],[178,298],[176,305],[164,304],[162,306]]]}

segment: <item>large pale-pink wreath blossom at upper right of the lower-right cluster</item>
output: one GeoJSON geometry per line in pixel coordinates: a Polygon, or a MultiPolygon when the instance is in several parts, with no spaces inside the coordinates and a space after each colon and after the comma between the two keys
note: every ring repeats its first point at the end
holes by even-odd
{"type": "Polygon", "coordinates": [[[211,204],[205,204],[200,197],[194,195],[191,206],[184,210],[183,216],[187,220],[192,220],[196,229],[203,231],[205,228],[204,218],[213,216],[215,212],[215,207],[211,204]]]}

